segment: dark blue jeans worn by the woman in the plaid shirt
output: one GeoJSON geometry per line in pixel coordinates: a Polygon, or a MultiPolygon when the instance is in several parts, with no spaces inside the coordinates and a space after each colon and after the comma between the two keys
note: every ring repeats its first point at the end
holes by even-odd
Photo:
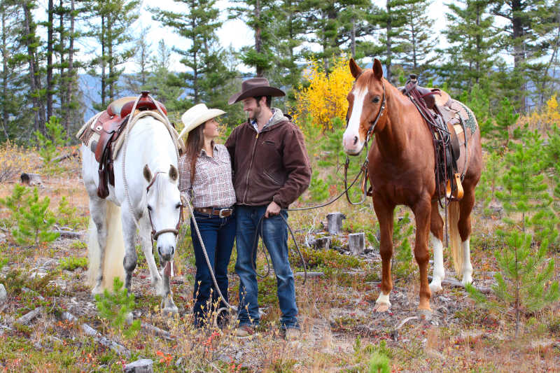
{"type": "MultiPolygon", "coordinates": [[[[235,215],[232,214],[227,218],[220,218],[218,216],[209,216],[205,213],[194,212],[195,219],[197,220],[198,229],[204,241],[204,247],[208,253],[208,258],[212,269],[214,269],[214,276],[218,287],[225,298],[228,300],[228,264],[232,255],[233,242],[235,240],[235,215]]],[[[195,248],[195,258],[197,265],[197,274],[195,277],[195,290],[193,291],[193,298],[195,298],[195,307],[193,313],[195,314],[195,325],[202,326],[207,317],[214,310],[214,304],[220,300],[220,296],[214,286],[214,281],[204,253],[202,246],[198,239],[193,220],[190,221],[190,237],[193,239],[193,246],[195,248]],[[212,292],[211,292],[212,289],[212,292]],[[211,293],[211,295],[210,295],[211,293]],[[210,299],[211,297],[211,299],[210,299]]],[[[220,301],[218,308],[225,307],[223,301],[220,301]]]]}

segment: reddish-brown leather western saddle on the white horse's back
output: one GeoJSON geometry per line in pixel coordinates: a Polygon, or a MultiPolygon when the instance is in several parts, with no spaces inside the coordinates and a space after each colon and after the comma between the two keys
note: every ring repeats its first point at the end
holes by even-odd
{"type": "MultiPolygon", "coordinates": [[[[138,100],[136,110],[147,111],[157,110],[158,106],[167,115],[165,106],[159,101],[155,101],[148,96],[150,92],[143,91],[138,100]],[[156,104],[157,102],[157,104],[156,104]]],[[[113,171],[113,144],[124,132],[129,116],[134,115],[132,108],[137,101],[137,97],[123,97],[116,99],[107,106],[106,111],[97,115],[97,120],[93,120],[82,134],[80,141],[88,146],[95,153],[95,160],[99,162],[99,186],[97,195],[99,198],[106,198],[109,195],[109,185],[115,186],[115,174],[113,171]]]]}

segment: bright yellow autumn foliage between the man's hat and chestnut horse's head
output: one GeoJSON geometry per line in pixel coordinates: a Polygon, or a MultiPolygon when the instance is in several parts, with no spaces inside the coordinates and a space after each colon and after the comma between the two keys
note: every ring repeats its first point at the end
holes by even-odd
{"type": "Polygon", "coordinates": [[[344,121],[348,110],[346,96],[353,83],[348,59],[336,58],[328,76],[318,61],[311,61],[304,79],[309,86],[300,85],[295,92],[296,105],[292,113],[294,121],[300,118],[303,122],[303,118],[310,115],[311,123],[308,125],[323,132],[332,129],[332,118],[338,117],[344,121]]]}

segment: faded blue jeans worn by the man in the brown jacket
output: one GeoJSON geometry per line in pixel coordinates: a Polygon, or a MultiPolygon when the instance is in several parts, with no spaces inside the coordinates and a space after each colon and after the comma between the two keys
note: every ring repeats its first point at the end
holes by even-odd
{"type": "MultiPolygon", "coordinates": [[[[258,325],[258,288],[253,263],[257,251],[253,249],[259,220],[267,206],[236,206],[237,213],[237,263],[235,272],[239,275],[239,325],[258,325]]],[[[288,213],[281,211],[284,218],[288,213]]],[[[261,229],[258,227],[258,234],[261,229]]],[[[276,274],[276,294],[280,303],[281,328],[299,328],[297,306],[295,304],[295,283],[288,260],[288,227],[281,216],[262,218],[262,241],[268,249],[276,274]]]]}

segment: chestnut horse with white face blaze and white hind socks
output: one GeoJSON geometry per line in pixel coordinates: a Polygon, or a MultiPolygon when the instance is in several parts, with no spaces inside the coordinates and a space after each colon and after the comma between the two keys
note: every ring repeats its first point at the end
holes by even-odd
{"type": "MultiPolygon", "coordinates": [[[[356,81],[347,97],[349,115],[342,141],[344,151],[349,155],[358,155],[368,137],[375,135],[367,155],[373,206],[381,231],[381,293],[374,309],[388,311],[391,307],[393,211],[396,205],[404,204],[412,209],[416,220],[414,258],[420,269],[419,311],[429,313],[431,292],[442,290],[441,281],[444,278],[443,220],[437,206],[442,196],[437,195],[435,185],[432,134],[412,101],[383,78],[379,59],[374,59],[372,69],[360,69],[350,59],[350,71],[356,81]],[[433,234],[434,267],[433,281],[428,286],[429,232],[433,234]]],[[[472,111],[464,105],[463,108],[474,120],[472,111]]],[[[465,131],[468,146],[464,142],[461,144],[461,157],[457,161],[458,172],[464,173],[464,195],[461,201],[449,204],[451,253],[456,272],[463,276],[463,284],[472,281],[470,212],[475,204],[475,187],[482,171],[480,131],[475,120],[472,131],[465,131]]],[[[444,185],[439,189],[445,190],[444,185]]]]}

